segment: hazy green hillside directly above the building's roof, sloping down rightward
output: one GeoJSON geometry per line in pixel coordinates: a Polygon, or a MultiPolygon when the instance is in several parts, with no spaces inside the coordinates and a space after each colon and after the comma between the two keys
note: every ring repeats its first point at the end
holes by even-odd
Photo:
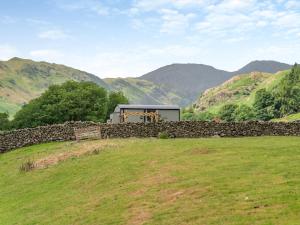
{"type": "Polygon", "coordinates": [[[185,105],[188,101],[182,96],[159,86],[151,81],[137,78],[107,78],[104,81],[113,90],[121,90],[130,100],[136,104],[176,104],[185,105]]]}

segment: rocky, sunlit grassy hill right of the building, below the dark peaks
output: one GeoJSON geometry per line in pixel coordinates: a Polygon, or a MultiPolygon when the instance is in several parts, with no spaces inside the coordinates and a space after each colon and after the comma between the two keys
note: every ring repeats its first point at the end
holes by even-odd
{"type": "Polygon", "coordinates": [[[220,86],[211,88],[195,103],[197,111],[217,112],[224,104],[251,105],[257,90],[272,89],[288,71],[277,74],[253,72],[233,77],[220,86]]]}

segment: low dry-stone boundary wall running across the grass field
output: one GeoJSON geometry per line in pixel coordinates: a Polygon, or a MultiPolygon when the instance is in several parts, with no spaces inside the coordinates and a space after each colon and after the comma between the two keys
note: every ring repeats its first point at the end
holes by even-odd
{"type": "Polygon", "coordinates": [[[180,121],[163,123],[101,124],[67,122],[65,124],[20,129],[0,134],[0,153],[11,149],[50,141],[75,140],[74,130],[99,126],[101,137],[157,137],[166,132],[171,137],[241,137],[241,136],[300,136],[300,122],[216,123],[180,121]]]}

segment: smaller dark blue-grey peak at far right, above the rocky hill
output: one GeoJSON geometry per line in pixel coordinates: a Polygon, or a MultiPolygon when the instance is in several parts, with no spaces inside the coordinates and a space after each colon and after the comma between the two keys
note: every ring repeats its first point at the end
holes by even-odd
{"type": "Polygon", "coordinates": [[[241,68],[238,71],[235,71],[234,74],[245,74],[251,73],[254,71],[264,72],[264,73],[276,73],[278,71],[288,70],[291,68],[291,65],[286,63],[280,63],[276,61],[253,61],[241,68]]]}

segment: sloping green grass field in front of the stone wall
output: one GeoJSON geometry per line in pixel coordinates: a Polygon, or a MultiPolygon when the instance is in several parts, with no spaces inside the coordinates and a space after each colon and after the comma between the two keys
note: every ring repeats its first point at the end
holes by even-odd
{"type": "Polygon", "coordinates": [[[299,162],[299,137],[26,147],[0,155],[0,224],[297,225],[299,162]]]}

